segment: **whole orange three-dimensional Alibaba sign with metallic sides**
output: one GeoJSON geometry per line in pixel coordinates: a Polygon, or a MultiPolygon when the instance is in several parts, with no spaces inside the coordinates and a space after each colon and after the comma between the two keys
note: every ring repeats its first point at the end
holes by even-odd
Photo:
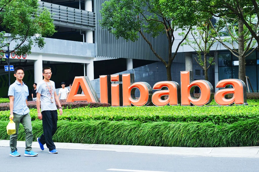
{"type": "MultiPolygon", "coordinates": [[[[134,74],[101,75],[100,102],[112,106],[143,106],[151,101],[156,106],[209,104],[213,99],[212,84],[206,80],[193,81],[192,76],[192,71],[181,71],[181,85],[174,81],[161,81],[155,83],[152,89],[146,82],[134,82],[134,74]],[[201,90],[198,99],[193,94],[195,87],[201,90]],[[135,97],[136,89],[140,92],[138,98],[135,97]],[[153,93],[153,90],[156,91],[153,93]],[[168,98],[164,99],[165,96],[168,98]]],[[[216,88],[220,90],[215,93],[214,99],[219,105],[247,104],[246,86],[240,79],[223,79],[216,88]],[[226,88],[229,85],[231,88],[226,88]],[[228,94],[233,94],[233,97],[226,99],[228,94]]],[[[99,98],[88,77],[75,77],[66,101],[99,102],[99,98]]]]}

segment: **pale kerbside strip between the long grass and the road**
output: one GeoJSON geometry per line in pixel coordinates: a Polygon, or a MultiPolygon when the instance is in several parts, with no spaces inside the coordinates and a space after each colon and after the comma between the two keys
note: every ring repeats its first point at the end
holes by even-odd
{"type": "MultiPolygon", "coordinates": [[[[81,144],[55,142],[57,149],[79,150],[106,150],[131,153],[154,153],[167,155],[188,155],[207,157],[250,157],[259,158],[259,147],[215,147],[215,148],[188,148],[188,147],[159,147],[159,146],[132,146],[111,144],[81,144]]],[[[9,140],[0,140],[0,146],[9,147],[9,140]]],[[[17,147],[25,147],[24,141],[17,141],[17,147]]],[[[39,148],[38,142],[33,142],[33,148],[39,148]]],[[[44,145],[47,149],[47,146],[44,145]]]]}

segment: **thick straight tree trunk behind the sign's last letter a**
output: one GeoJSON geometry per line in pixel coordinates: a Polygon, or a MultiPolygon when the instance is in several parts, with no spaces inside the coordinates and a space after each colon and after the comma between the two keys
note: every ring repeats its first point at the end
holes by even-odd
{"type": "Polygon", "coordinates": [[[245,55],[244,52],[244,24],[241,19],[238,21],[238,62],[239,62],[239,70],[238,70],[238,78],[245,82],[245,55]]]}

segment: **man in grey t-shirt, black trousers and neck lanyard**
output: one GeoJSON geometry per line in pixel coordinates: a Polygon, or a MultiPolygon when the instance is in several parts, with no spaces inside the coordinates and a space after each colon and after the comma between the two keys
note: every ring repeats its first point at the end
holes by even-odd
{"type": "Polygon", "coordinates": [[[55,83],[50,81],[52,72],[50,67],[44,67],[42,69],[42,75],[44,79],[37,85],[37,111],[38,118],[42,120],[43,134],[37,138],[41,150],[44,150],[44,144],[46,143],[49,148],[49,153],[58,153],[56,146],[53,142],[52,136],[57,131],[58,112],[56,103],[59,107],[59,114],[62,115],[62,107],[58,99],[58,95],[55,89],[55,83]]]}

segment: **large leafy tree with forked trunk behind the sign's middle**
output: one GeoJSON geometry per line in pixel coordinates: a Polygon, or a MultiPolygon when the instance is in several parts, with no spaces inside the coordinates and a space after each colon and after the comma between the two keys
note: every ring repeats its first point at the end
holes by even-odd
{"type": "Polygon", "coordinates": [[[159,0],[110,0],[102,4],[100,11],[102,20],[100,26],[111,32],[115,38],[123,38],[125,40],[137,41],[142,37],[150,46],[155,56],[163,62],[167,71],[167,80],[172,81],[171,66],[177,54],[180,44],[185,40],[190,32],[194,18],[191,17],[191,8],[181,5],[182,1],[174,1],[174,7],[171,9],[170,15],[164,15],[166,12],[166,1],[159,0]],[[172,46],[175,41],[174,33],[177,29],[186,30],[182,33],[182,40],[176,44],[176,51],[172,54],[172,46]],[[151,42],[148,40],[149,34],[155,38],[162,34],[167,37],[168,61],[164,60],[155,51],[151,42]]]}

